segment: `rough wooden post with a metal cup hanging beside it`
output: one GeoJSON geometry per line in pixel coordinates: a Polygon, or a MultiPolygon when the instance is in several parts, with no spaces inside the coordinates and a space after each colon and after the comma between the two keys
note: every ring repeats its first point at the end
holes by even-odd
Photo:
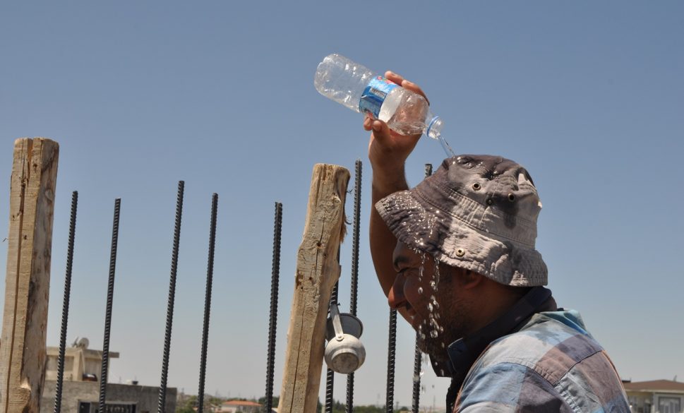
{"type": "Polygon", "coordinates": [[[340,278],[337,250],[346,230],[348,182],[349,171],[343,167],[313,167],[304,237],[297,252],[280,413],[316,412],[330,294],[340,278]]]}

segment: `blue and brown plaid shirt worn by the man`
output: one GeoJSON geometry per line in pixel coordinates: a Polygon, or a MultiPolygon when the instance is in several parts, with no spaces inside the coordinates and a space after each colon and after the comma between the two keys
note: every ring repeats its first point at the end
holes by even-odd
{"type": "Polygon", "coordinates": [[[580,314],[560,310],[536,313],[493,340],[465,376],[454,412],[626,413],[630,407],[580,314]]]}

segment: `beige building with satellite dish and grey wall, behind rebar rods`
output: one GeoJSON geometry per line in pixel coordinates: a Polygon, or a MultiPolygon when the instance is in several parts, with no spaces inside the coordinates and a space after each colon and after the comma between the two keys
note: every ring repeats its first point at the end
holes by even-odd
{"type": "MultiPolygon", "coordinates": [[[[40,401],[41,413],[54,411],[57,380],[58,347],[47,347],[45,385],[40,401]]],[[[109,362],[118,359],[119,353],[109,352],[109,362]]],[[[62,413],[96,413],[100,405],[100,373],[102,351],[88,349],[88,339],[80,339],[65,349],[64,381],[62,383],[62,413]]],[[[107,380],[107,413],[157,412],[159,388],[130,384],[109,383],[107,380]]],[[[165,412],[176,411],[176,389],[167,388],[165,412]]]]}

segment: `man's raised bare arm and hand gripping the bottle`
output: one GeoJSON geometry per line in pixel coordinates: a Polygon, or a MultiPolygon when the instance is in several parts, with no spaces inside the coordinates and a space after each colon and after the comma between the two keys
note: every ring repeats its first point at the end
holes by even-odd
{"type": "MultiPolygon", "coordinates": [[[[418,85],[409,82],[402,76],[385,72],[385,78],[392,80],[402,88],[416,92],[425,97],[425,93],[418,85]]],[[[416,143],[421,135],[400,135],[378,119],[366,116],[364,129],[372,131],[371,141],[368,143],[368,159],[373,167],[373,205],[378,200],[396,191],[408,189],[404,174],[404,162],[416,148],[416,143]]],[[[378,281],[385,295],[390,293],[390,288],[395,282],[396,272],[392,265],[392,252],[397,244],[397,239],[390,232],[380,214],[375,208],[371,208],[371,224],[369,227],[371,238],[371,256],[376,268],[378,281]]],[[[406,317],[404,311],[400,311],[406,317]]]]}

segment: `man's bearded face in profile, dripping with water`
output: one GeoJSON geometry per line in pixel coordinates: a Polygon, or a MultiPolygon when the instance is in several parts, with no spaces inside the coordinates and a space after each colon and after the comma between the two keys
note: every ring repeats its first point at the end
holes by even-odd
{"type": "Polygon", "coordinates": [[[472,303],[458,288],[463,270],[436,265],[434,258],[397,242],[393,253],[397,277],[388,294],[397,309],[419,333],[421,350],[445,357],[445,347],[469,331],[472,303]]]}

